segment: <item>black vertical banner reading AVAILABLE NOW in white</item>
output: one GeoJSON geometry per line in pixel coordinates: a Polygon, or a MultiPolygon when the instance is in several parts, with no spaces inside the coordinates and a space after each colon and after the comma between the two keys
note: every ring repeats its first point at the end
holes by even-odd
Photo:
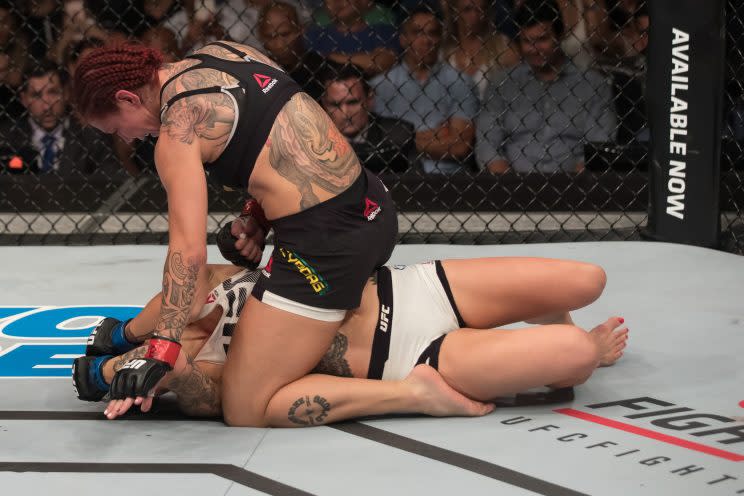
{"type": "Polygon", "coordinates": [[[651,131],[644,235],[716,247],[726,0],[648,1],[651,131]]]}

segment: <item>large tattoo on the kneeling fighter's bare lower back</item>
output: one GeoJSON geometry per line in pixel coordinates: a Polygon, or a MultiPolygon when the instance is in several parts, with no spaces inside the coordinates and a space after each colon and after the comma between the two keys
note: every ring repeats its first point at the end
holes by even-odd
{"type": "Polygon", "coordinates": [[[269,162],[297,187],[302,209],[320,203],[313,184],[338,194],[361,172],[349,143],[320,105],[305,93],[294,95],[282,109],[269,139],[269,162]]]}

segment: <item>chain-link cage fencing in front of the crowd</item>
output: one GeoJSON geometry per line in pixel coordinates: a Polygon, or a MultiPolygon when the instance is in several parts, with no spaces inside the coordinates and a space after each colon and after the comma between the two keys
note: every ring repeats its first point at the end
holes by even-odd
{"type": "MultiPolygon", "coordinates": [[[[740,11],[721,188],[738,253],[740,11]]],[[[641,0],[5,0],[0,20],[2,244],[167,243],[153,139],[85,128],[65,103],[86,50],[131,39],[172,62],[217,39],[276,60],[391,190],[401,242],[635,240],[647,223],[641,0]]],[[[213,233],[245,196],[210,182],[209,198],[213,233]]]]}

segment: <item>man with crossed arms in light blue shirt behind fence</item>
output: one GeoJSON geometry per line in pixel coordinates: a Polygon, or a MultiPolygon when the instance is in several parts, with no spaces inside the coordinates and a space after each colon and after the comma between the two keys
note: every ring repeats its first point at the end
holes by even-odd
{"type": "Polygon", "coordinates": [[[428,173],[453,173],[471,156],[478,95],[469,76],[439,60],[442,24],[417,9],[401,27],[403,62],[374,78],[375,112],[413,124],[428,173]]]}

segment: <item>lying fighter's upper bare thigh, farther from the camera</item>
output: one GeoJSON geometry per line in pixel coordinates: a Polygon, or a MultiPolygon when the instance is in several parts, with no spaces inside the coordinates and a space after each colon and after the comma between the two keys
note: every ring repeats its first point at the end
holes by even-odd
{"type": "Polygon", "coordinates": [[[604,290],[604,270],[572,260],[498,257],[442,260],[466,325],[499,327],[575,310],[604,290]]]}

